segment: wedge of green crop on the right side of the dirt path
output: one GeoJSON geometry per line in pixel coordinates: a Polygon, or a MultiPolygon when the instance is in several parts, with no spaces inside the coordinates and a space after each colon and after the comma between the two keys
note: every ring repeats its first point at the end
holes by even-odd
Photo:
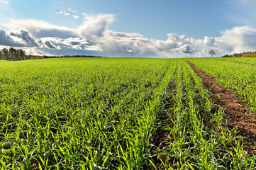
{"type": "Polygon", "coordinates": [[[249,104],[250,111],[256,111],[256,69],[246,61],[255,61],[247,58],[223,59],[192,59],[196,67],[206,74],[215,77],[217,82],[228,89],[236,91],[240,98],[249,104]]]}

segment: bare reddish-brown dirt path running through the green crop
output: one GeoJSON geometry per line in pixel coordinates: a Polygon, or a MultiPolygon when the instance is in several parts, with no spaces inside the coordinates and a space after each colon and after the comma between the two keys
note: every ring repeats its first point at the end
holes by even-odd
{"type": "Polygon", "coordinates": [[[234,91],[224,89],[223,86],[215,83],[216,79],[209,77],[191,62],[187,63],[202,78],[204,86],[211,91],[216,105],[226,108],[224,113],[228,118],[228,126],[237,128],[237,136],[248,137],[248,139],[244,139],[244,149],[248,153],[256,155],[256,118],[254,115],[245,113],[247,111],[246,103],[240,101],[238,94],[234,91]]]}

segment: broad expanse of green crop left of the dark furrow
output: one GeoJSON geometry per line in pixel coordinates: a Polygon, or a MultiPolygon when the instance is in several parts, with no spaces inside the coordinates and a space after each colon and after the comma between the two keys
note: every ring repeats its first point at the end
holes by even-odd
{"type": "Polygon", "coordinates": [[[139,169],[169,63],[69,61],[2,67],[2,167],[139,169]]]}

